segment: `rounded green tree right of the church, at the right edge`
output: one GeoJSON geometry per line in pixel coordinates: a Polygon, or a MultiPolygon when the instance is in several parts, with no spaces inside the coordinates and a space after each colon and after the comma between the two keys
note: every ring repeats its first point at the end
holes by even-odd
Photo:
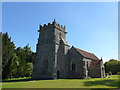
{"type": "Polygon", "coordinates": [[[111,71],[112,74],[117,74],[117,72],[120,72],[120,61],[110,59],[109,61],[105,62],[104,65],[106,73],[111,71]]]}

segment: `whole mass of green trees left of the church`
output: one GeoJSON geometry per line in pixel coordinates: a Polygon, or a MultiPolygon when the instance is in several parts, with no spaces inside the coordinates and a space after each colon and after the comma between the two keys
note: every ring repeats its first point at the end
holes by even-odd
{"type": "Polygon", "coordinates": [[[30,76],[32,73],[33,52],[27,44],[25,47],[15,47],[8,34],[2,34],[2,78],[30,76]]]}

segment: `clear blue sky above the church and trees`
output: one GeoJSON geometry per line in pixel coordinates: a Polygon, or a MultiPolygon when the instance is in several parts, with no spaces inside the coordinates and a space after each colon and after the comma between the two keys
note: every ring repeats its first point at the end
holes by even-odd
{"type": "Polygon", "coordinates": [[[15,45],[36,51],[39,24],[56,19],[66,25],[70,46],[94,53],[104,61],[118,58],[117,2],[3,2],[2,32],[15,45]]]}

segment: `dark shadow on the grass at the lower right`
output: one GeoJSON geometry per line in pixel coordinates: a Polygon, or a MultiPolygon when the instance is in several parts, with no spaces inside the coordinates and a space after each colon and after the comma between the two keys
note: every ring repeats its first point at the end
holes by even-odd
{"type": "Polygon", "coordinates": [[[118,80],[116,79],[84,82],[84,86],[97,86],[97,85],[110,86],[110,87],[116,87],[116,88],[119,87],[118,80]]]}

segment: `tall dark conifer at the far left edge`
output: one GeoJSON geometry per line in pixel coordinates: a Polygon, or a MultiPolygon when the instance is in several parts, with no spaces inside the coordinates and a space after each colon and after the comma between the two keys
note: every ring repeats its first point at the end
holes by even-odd
{"type": "Polygon", "coordinates": [[[15,45],[8,37],[8,33],[2,35],[2,78],[9,78],[15,45]]]}

